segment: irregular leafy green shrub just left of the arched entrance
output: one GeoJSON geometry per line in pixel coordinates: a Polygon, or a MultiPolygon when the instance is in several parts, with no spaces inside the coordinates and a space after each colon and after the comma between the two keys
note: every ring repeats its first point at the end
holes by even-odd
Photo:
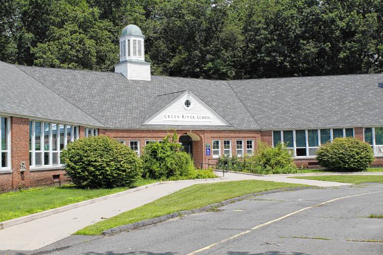
{"type": "Polygon", "coordinates": [[[192,157],[178,143],[176,132],[161,142],[146,145],[141,159],[145,178],[166,180],[172,176],[186,176],[195,169],[192,157]]]}

